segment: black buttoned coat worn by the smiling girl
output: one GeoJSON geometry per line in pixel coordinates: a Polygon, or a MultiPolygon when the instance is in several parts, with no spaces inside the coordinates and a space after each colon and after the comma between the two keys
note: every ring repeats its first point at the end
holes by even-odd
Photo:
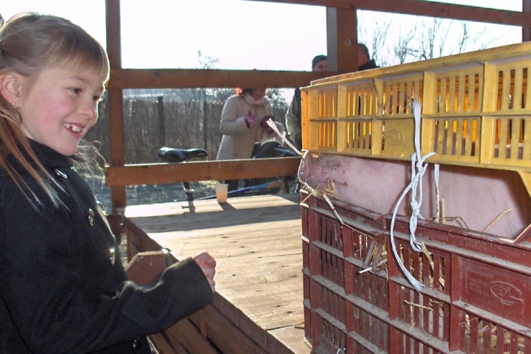
{"type": "Polygon", "coordinates": [[[32,205],[0,169],[0,353],[135,353],[136,338],[139,353],[151,353],[147,335],[212,302],[205,275],[188,258],[151,285],[127,280],[118,253],[111,265],[118,247],[72,159],[32,146],[63,205],[19,167],[43,203],[32,205]]]}

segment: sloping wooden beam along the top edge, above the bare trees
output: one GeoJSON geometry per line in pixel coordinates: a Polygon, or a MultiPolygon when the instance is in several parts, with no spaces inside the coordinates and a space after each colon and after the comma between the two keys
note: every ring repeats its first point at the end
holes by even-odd
{"type": "Polygon", "coordinates": [[[527,26],[531,14],[476,6],[445,4],[421,0],[251,0],[284,4],[315,5],[335,8],[402,13],[406,15],[453,18],[455,20],[527,26]]]}

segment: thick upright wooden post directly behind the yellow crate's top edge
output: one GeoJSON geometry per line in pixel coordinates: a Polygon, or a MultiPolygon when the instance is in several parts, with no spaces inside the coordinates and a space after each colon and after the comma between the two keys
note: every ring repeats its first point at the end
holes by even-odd
{"type": "Polygon", "coordinates": [[[355,8],[326,8],[329,72],[358,71],[358,25],[355,8]]]}

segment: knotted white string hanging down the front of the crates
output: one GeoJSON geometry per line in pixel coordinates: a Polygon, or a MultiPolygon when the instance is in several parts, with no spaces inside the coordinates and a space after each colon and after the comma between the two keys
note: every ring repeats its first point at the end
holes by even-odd
{"type": "Polygon", "coordinates": [[[398,208],[400,206],[400,203],[404,199],[404,197],[407,195],[409,190],[411,190],[411,217],[409,219],[409,244],[411,246],[411,249],[417,252],[421,252],[422,249],[416,245],[416,238],[415,238],[415,231],[417,227],[417,219],[420,217],[423,219],[421,215],[421,205],[422,205],[422,177],[424,173],[426,172],[426,169],[428,168],[428,165],[423,165],[424,161],[428,159],[428,157],[433,156],[435,152],[429,152],[425,156],[421,157],[421,103],[418,102],[417,98],[413,99],[413,102],[411,103],[411,110],[413,111],[413,115],[415,118],[415,152],[411,154],[411,183],[406,187],[402,195],[400,196],[398,202],[396,202],[396,205],[393,210],[393,215],[391,219],[391,227],[389,230],[389,236],[391,239],[391,246],[394,253],[394,257],[396,259],[396,262],[399,263],[400,269],[402,270],[402,273],[406,275],[407,280],[413,285],[415,290],[418,292],[421,292],[422,287],[424,286],[421,282],[416,280],[413,275],[409,272],[409,270],[406,268],[404,263],[401,261],[398,252],[396,251],[396,245],[394,244],[394,222],[396,219],[396,214],[398,212],[398,208]]]}

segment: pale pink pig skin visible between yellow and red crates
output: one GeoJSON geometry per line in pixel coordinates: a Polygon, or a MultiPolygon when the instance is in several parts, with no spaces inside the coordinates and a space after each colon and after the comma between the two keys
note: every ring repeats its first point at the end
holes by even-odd
{"type": "MultiPolygon", "coordinates": [[[[435,179],[433,164],[423,177],[421,215],[435,215],[435,179]]],[[[381,214],[392,213],[400,195],[411,181],[411,161],[370,159],[355,156],[304,156],[299,178],[312,188],[323,190],[332,178],[334,195],[351,204],[381,214]]],[[[469,229],[483,231],[502,212],[488,233],[515,239],[531,224],[530,196],[522,179],[514,171],[479,169],[466,166],[440,165],[440,199],[445,199],[447,217],[461,217],[469,229]]],[[[406,195],[399,207],[400,215],[411,215],[406,195]]],[[[464,227],[459,221],[448,221],[464,227]]]]}

